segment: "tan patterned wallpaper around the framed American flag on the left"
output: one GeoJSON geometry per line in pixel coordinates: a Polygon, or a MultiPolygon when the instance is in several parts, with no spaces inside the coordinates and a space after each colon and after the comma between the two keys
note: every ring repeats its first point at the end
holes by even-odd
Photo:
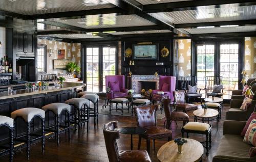
{"type": "MultiPolygon", "coordinates": [[[[67,43],[42,39],[38,39],[37,43],[45,44],[47,48],[47,74],[66,73],[66,70],[53,70],[53,60],[57,59],[57,49],[66,49],[65,59],[69,59],[76,62],[78,65],[81,65],[81,43],[67,43]],[[54,54],[52,57],[49,57],[50,49],[54,49],[54,54]]],[[[40,80],[40,75],[38,75],[38,80],[40,80]]]]}

